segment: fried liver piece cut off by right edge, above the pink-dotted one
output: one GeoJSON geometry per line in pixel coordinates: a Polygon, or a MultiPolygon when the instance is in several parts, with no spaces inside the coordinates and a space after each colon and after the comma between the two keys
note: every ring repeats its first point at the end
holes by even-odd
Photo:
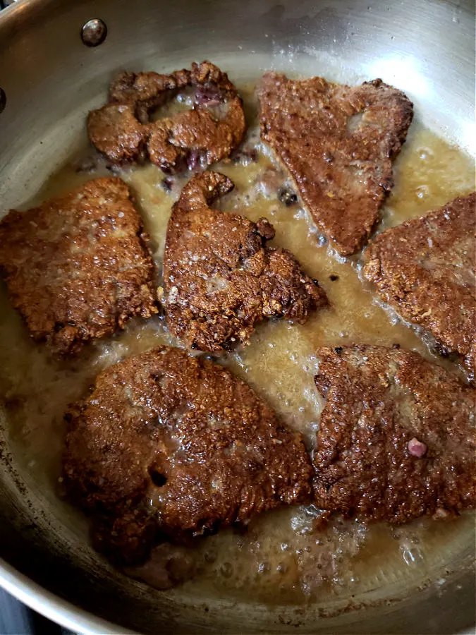
{"type": "Polygon", "coordinates": [[[476,370],[476,193],[379,234],[363,273],[384,301],[476,370]]]}

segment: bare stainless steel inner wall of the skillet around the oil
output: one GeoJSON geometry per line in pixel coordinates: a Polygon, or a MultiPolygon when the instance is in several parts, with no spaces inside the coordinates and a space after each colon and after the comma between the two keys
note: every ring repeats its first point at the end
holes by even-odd
{"type": "MultiPolygon", "coordinates": [[[[123,0],[20,1],[0,20],[0,86],[7,96],[0,115],[1,207],[21,205],[74,152],[85,113],[102,102],[115,71],[179,68],[190,59],[230,67],[239,58],[233,66],[244,75],[256,75],[262,60],[286,70],[307,58],[312,72],[336,79],[352,81],[348,69],[356,78],[380,75],[408,92],[430,125],[468,147],[476,138],[473,44],[469,2],[302,1],[285,7],[267,0],[137,0],[131,11],[123,0]],[[109,35],[87,49],[79,32],[93,17],[104,19],[109,35]]],[[[355,610],[338,601],[304,610],[222,600],[207,603],[205,611],[204,602],[180,589],[159,593],[109,569],[78,542],[71,519],[58,514],[47,492],[23,478],[6,437],[0,452],[0,555],[61,598],[127,629],[434,633],[474,622],[474,575],[465,566],[473,560],[471,544],[444,586],[419,593],[396,588],[391,598],[376,588],[356,600],[355,610]],[[389,601],[379,601],[384,598],[389,601]]]]}

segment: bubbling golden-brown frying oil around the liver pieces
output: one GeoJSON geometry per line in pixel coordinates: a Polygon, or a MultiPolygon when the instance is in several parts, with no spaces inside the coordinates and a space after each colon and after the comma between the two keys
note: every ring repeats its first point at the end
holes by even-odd
{"type": "MultiPolygon", "coordinates": [[[[248,120],[256,121],[252,91],[245,88],[243,94],[248,120]]],[[[250,138],[257,139],[256,126],[250,129],[250,138]]],[[[276,228],[274,242],[295,253],[329,296],[330,308],[313,315],[307,324],[283,320],[262,324],[249,346],[221,359],[267,399],[288,425],[303,432],[310,449],[322,408],[313,381],[317,346],[400,344],[451,368],[451,363],[437,360],[413,329],[379,306],[372,290],[359,279],[358,258],[338,258],[323,244],[299,203],[286,207],[276,198],[276,183],[286,178],[276,176],[262,148],[257,162],[223,162],[216,169],[236,183],[221,207],[252,220],[267,217],[276,228]]],[[[101,163],[89,174],[69,164],[51,176],[28,205],[104,174],[109,173],[101,163]]],[[[164,175],[154,166],[124,170],[121,176],[135,191],[160,268],[171,202],[184,180],[166,193],[164,175]]],[[[468,193],[474,188],[474,168],[470,157],[416,122],[396,162],[395,181],[379,229],[468,193]]],[[[56,500],[63,412],[99,370],[162,343],[176,344],[164,320],[135,320],[117,337],[91,346],[81,358],[54,361],[42,346],[30,341],[1,289],[0,392],[6,395],[11,445],[27,482],[42,490],[82,540],[86,539],[82,516],[56,500]]],[[[457,521],[425,519],[399,528],[367,528],[336,519],[325,531],[316,531],[317,512],[313,506],[282,508],[253,521],[247,533],[223,531],[207,538],[195,552],[200,572],[183,590],[200,593],[202,598],[300,603],[317,597],[357,596],[393,583],[411,588],[422,581],[443,579],[447,563],[471,540],[474,523],[471,514],[457,521]]]]}

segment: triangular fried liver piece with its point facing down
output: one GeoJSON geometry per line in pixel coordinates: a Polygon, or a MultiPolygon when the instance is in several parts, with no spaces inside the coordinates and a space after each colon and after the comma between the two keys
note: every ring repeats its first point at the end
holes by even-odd
{"type": "Polygon", "coordinates": [[[319,229],[343,256],[367,242],[393,187],[413,104],[382,80],[349,87],[266,73],[262,139],[291,172],[319,229]]]}

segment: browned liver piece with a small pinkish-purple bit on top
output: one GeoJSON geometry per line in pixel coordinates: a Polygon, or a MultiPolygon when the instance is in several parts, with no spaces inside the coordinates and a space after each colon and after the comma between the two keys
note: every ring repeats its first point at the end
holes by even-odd
{"type": "Polygon", "coordinates": [[[403,523],[475,507],[475,391],[417,353],[317,351],[325,397],[314,456],[318,507],[403,523]]]}

